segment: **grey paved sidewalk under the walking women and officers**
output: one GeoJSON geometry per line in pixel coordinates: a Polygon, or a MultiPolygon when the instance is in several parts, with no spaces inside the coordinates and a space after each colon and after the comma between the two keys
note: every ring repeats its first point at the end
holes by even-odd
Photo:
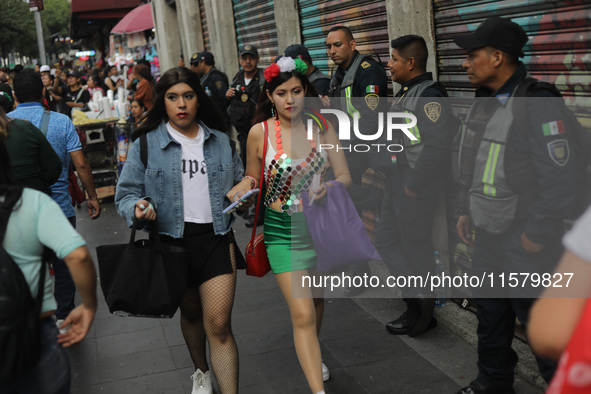
{"type": "MultiPolygon", "coordinates": [[[[113,203],[103,204],[97,221],[90,221],[85,208],[77,214],[77,229],[93,257],[98,245],[128,240],[129,230],[113,203]]],[[[234,228],[242,248],[250,229],[241,219],[234,228]]],[[[448,304],[437,310],[439,327],[412,339],[390,335],[384,327],[402,313],[398,299],[326,300],[320,335],[331,374],[326,392],[457,392],[477,373],[476,350],[464,339],[471,335],[473,342],[475,318],[460,309],[448,304]]],[[[271,274],[254,278],[239,271],[232,321],[240,352],[240,393],[309,392],[293,348],[289,310],[271,274]]],[[[166,320],[113,316],[100,288],[95,323],[70,356],[74,394],[191,392],[189,376],[194,368],[179,313],[166,320]]],[[[519,368],[535,378],[528,362],[519,368]]],[[[515,389],[523,394],[542,392],[521,378],[516,379],[515,389]]]]}

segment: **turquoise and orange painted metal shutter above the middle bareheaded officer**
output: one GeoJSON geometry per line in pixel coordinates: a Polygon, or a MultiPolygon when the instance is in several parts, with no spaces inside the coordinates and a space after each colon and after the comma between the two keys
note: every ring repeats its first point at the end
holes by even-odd
{"type": "Polygon", "coordinates": [[[379,55],[386,66],[390,59],[388,16],[385,1],[298,0],[302,43],[314,65],[330,73],[335,64],[326,54],[326,35],[335,25],[351,29],[361,53],[379,55]]]}

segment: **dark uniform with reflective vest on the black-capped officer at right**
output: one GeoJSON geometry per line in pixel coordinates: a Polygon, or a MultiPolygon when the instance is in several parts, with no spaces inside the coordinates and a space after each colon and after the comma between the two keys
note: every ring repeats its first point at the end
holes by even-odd
{"type": "MultiPolygon", "coordinates": [[[[460,153],[461,213],[470,215],[475,228],[473,275],[495,268],[507,274],[552,272],[562,254],[563,220],[574,219],[577,212],[579,178],[572,130],[564,127],[564,112],[551,99],[530,99],[526,114],[515,113],[514,94],[526,76],[520,64],[496,92],[479,89],[477,97],[492,99],[477,101],[466,121],[460,153]],[[528,118],[527,130],[517,128],[514,116],[520,115],[528,118]],[[522,234],[543,245],[543,251],[525,251],[522,234]]],[[[555,94],[538,90],[531,97],[555,94]]],[[[476,382],[482,387],[512,390],[517,364],[511,348],[515,317],[527,325],[534,298],[525,296],[530,294],[535,297],[524,292],[519,298],[475,300],[476,382]]],[[[555,364],[537,361],[549,380],[555,364]]]]}

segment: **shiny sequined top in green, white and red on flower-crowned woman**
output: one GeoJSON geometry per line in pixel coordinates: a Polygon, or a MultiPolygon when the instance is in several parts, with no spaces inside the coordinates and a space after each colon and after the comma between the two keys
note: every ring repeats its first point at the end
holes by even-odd
{"type": "Polygon", "coordinates": [[[306,158],[292,159],[286,153],[278,156],[270,140],[267,142],[267,147],[265,206],[268,207],[279,199],[281,212],[291,215],[298,212],[298,206],[302,201],[300,194],[310,188],[312,177],[319,174],[321,179],[324,178],[327,153],[326,151],[318,152],[313,147],[306,158]]]}

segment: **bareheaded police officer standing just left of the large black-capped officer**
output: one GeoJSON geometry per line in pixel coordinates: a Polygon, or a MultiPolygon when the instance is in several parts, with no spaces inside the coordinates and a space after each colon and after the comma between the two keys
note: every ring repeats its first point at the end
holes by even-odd
{"type": "MultiPolygon", "coordinates": [[[[375,241],[392,274],[426,277],[435,270],[431,234],[450,163],[451,117],[443,99],[445,88],[427,72],[425,40],[407,35],[391,44],[388,66],[392,80],[401,85],[391,111],[417,117],[417,125],[410,129],[416,140],[401,136],[402,152],[381,153],[385,157],[379,167],[372,160],[372,167],[386,175],[375,241]]],[[[432,294],[410,286],[401,292],[407,310],[386,325],[390,333],[414,337],[437,325],[432,294]]]]}

